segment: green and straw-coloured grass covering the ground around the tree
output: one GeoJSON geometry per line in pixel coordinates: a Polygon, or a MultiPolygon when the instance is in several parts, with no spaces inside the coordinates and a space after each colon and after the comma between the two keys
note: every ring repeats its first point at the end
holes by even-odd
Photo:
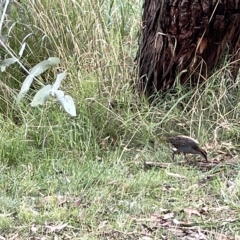
{"type": "MultiPolygon", "coordinates": [[[[227,62],[203,85],[176,86],[149,105],[132,92],[142,2],[23,1],[9,46],[27,68],[61,59],[77,106],[14,103],[25,73],[1,80],[0,236],[3,239],[223,239],[239,233],[239,78],[227,62]],[[112,107],[114,103],[114,106],[112,107]],[[196,137],[210,163],[171,159],[166,133],[196,137]],[[162,168],[147,167],[158,162],[162,168]],[[165,165],[164,165],[165,163],[165,165]],[[222,235],[221,235],[222,234],[222,235]]],[[[236,238],[237,239],[237,238],[236,238]]]]}

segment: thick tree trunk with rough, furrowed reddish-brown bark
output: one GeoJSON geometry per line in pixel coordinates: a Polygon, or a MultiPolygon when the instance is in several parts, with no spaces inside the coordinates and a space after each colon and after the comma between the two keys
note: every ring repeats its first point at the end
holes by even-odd
{"type": "Polygon", "coordinates": [[[240,0],[145,0],[137,62],[148,96],[207,79],[227,53],[240,66],[240,0]],[[190,77],[191,76],[191,77],[190,77]]]}

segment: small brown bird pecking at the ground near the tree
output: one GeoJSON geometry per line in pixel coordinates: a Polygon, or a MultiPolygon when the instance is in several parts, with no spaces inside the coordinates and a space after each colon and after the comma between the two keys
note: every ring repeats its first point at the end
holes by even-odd
{"type": "Polygon", "coordinates": [[[186,157],[187,153],[191,154],[199,154],[206,161],[207,159],[207,152],[200,148],[199,142],[191,137],[184,136],[184,135],[178,135],[178,136],[167,136],[166,141],[171,143],[171,145],[174,147],[173,149],[173,159],[175,154],[183,153],[186,157]]]}

